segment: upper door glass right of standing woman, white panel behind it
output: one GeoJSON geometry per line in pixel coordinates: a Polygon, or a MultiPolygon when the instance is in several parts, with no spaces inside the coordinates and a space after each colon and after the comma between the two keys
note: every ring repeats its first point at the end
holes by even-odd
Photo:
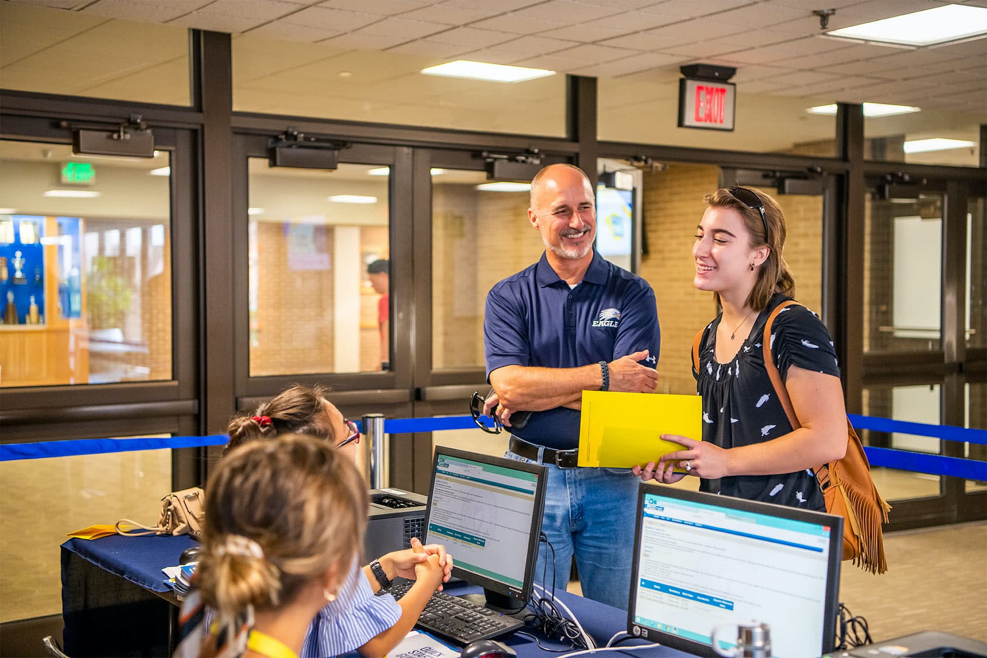
{"type": "Polygon", "coordinates": [[[870,194],[865,221],[865,352],[940,349],[943,197],[870,194]]]}

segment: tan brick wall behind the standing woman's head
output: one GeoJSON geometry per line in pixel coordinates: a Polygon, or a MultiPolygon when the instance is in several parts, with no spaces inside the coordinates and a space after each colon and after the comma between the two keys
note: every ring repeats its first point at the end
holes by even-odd
{"type": "MultiPolygon", "coordinates": [[[[715,165],[670,163],[663,172],[645,173],[644,221],[648,253],[641,274],[654,289],[661,325],[658,392],[693,394],[691,350],[696,332],[718,310],[710,293],[693,287],[692,245],[702,219],[703,196],[717,189],[715,165]]],[[[788,240],[784,256],[796,277],[797,299],[818,312],[822,280],[822,197],[782,196],[788,240]]]]}

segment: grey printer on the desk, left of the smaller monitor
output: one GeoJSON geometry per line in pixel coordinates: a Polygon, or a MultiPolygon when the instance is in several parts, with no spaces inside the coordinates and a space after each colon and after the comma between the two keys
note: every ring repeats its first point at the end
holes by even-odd
{"type": "Polygon", "coordinates": [[[366,561],[409,548],[413,537],[424,544],[426,496],[393,487],[371,489],[369,495],[370,517],[363,541],[366,561]]]}

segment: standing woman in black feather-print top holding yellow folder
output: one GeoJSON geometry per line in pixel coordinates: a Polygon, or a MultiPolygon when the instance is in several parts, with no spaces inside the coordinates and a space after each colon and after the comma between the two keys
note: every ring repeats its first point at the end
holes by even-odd
{"type": "Polygon", "coordinates": [[[763,333],[795,280],[782,256],[785,216],[774,198],[747,187],[708,194],[692,248],[696,288],[722,312],[702,333],[697,368],[703,440],[664,435],[685,450],[635,474],[670,484],[699,475],[700,490],[825,510],[813,469],[847,450],[840,368],[826,326],[803,306],[781,309],[768,349],[795,407],[794,428],[768,374],[763,333]],[[678,465],[687,473],[673,471],[678,465]]]}

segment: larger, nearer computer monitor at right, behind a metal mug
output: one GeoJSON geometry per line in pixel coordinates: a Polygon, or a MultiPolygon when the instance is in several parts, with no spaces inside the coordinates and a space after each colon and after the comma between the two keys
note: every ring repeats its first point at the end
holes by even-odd
{"type": "Polygon", "coordinates": [[[771,655],[835,644],[843,518],[655,484],[638,496],[628,632],[700,656],[728,624],[771,628],[771,655]]]}

